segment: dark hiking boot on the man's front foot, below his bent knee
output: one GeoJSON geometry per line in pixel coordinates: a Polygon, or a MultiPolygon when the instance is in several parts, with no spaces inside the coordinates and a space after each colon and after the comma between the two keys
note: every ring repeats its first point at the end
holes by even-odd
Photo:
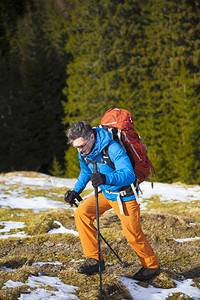
{"type": "MultiPolygon", "coordinates": [[[[101,271],[105,270],[104,260],[101,260],[101,271]]],[[[82,264],[77,269],[78,273],[93,275],[94,273],[99,272],[99,261],[94,258],[87,258],[84,264],[82,264]]]]}

